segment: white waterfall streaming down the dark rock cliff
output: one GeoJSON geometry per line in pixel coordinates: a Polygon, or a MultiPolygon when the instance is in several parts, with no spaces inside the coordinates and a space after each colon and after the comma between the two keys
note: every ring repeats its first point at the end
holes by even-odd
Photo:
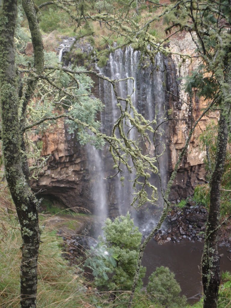
{"type": "MultiPolygon", "coordinates": [[[[150,62],[140,63],[140,52],[134,51],[131,46],[127,47],[126,50],[117,49],[114,53],[111,53],[106,67],[98,68],[99,73],[109,77],[110,79],[123,79],[126,77],[134,78],[134,87],[136,91],[132,94],[132,102],[139,113],[141,113],[146,119],[152,121],[157,117],[160,118],[165,116],[165,90],[164,90],[164,64],[163,55],[158,53],[156,55],[156,67],[150,62]]],[[[118,84],[118,93],[121,97],[126,98],[128,94],[132,93],[133,83],[132,80],[123,81],[118,84]]],[[[116,106],[117,100],[113,88],[110,83],[99,79],[99,98],[105,105],[104,111],[100,114],[100,120],[102,123],[102,132],[111,134],[111,129],[118,118],[119,110],[116,106]]],[[[160,131],[160,129],[159,129],[160,131]]],[[[135,139],[135,130],[130,131],[130,138],[135,139]]],[[[159,136],[159,143],[157,151],[160,153],[163,150],[161,142],[166,142],[164,135],[159,136]]],[[[87,147],[88,157],[91,156],[90,164],[96,170],[93,171],[95,180],[93,181],[92,187],[92,198],[95,205],[95,215],[101,216],[101,221],[107,217],[115,217],[117,215],[126,214],[129,210],[132,212],[136,224],[138,219],[136,218],[136,211],[130,206],[132,202],[132,180],[134,175],[130,174],[124,168],[125,177],[124,187],[121,185],[120,176],[117,175],[113,178],[107,178],[115,174],[113,170],[113,161],[110,154],[108,153],[108,147],[104,150],[93,149],[92,146],[87,147]]],[[[153,144],[148,145],[148,152],[151,155],[154,154],[153,144]]],[[[165,168],[162,167],[160,170],[162,183],[165,187],[167,167],[166,167],[166,154],[160,157],[161,163],[165,163],[165,168]]],[[[91,166],[91,170],[92,170],[91,166]]],[[[89,170],[90,170],[89,169],[89,170]]],[[[92,172],[92,171],[91,171],[92,172]]],[[[93,174],[90,174],[90,178],[93,174]]],[[[160,187],[158,184],[158,177],[153,176],[154,184],[158,187],[160,195],[160,187]]],[[[158,201],[162,204],[162,200],[158,201]]]]}

